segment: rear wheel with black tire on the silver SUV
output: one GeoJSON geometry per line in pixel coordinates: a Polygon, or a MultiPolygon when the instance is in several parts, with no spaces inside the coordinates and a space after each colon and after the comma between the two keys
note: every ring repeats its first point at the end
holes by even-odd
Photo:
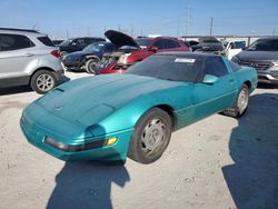
{"type": "Polygon", "coordinates": [[[39,70],[31,77],[30,86],[32,90],[44,94],[57,86],[57,78],[48,70],[39,70]]]}

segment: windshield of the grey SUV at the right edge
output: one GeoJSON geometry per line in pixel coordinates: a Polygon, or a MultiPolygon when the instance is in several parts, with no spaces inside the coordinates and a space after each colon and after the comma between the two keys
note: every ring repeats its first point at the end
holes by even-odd
{"type": "Polygon", "coordinates": [[[278,51],[278,39],[259,39],[250,44],[247,51],[278,51]]]}

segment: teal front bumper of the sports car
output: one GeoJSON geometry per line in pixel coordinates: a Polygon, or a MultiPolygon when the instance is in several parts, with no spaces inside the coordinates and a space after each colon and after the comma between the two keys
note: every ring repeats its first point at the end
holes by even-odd
{"type": "MultiPolygon", "coordinates": [[[[61,160],[125,160],[132,129],[121,130],[113,133],[107,133],[100,137],[86,139],[68,139],[67,146],[63,148],[58,145],[61,140],[53,139],[51,131],[36,125],[30,118],[22,115],[20,127],[27,140],[34,147],[61,160]],[[107,146],[109,138],[117,138],[117,142],[107,146]]],[[[64,141],[64,140],[62,140],[64,141]]],[[[64,145],[64,142],[63,142],[64,145]]]]}

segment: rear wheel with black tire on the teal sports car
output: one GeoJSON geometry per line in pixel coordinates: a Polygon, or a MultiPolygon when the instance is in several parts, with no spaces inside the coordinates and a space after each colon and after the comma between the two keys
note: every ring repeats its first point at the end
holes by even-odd
{"type": "Polygon", "coordinates": [[[238,91],[237,99],[232,108],[224,110],[225,116],[240,118],[245,115],[249,103],[249,88],[247,84],[242,84],[238,91]]]}

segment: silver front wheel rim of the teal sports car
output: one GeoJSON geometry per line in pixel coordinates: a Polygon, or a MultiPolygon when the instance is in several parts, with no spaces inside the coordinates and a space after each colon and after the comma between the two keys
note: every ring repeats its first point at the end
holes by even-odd
{"type": "Polygon", "coordinates": [[[166,125],[159,119],[150,120],[141,135],[142,150],[151,153],[162,147],[166,139],[166,125]]]}

